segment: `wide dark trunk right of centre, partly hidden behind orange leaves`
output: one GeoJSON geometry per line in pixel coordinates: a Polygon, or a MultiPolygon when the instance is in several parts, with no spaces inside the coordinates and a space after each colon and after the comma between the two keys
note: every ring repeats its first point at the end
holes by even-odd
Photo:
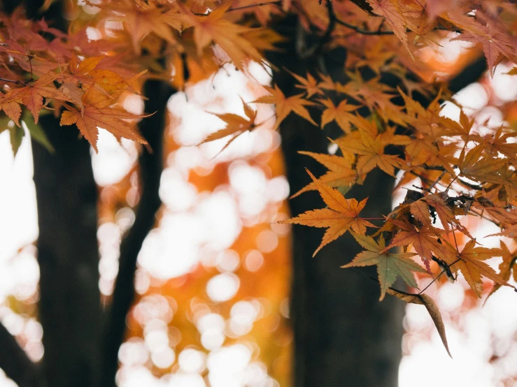
{"type": "MultiPolygon", "coordinates": [[[[281,51],[267,55],[274,66],[302,76],[307,71],[316,75],[325,66],[334,80],[343,78],[346,52],[334,52],[338,56],[336,62],[330,57],[301,57],[296,46],[299,48],[304,42],[297,36],[295,18],[284,20],[278,32],[289,41],[281,45],[281,51]]],[[[295,78],[285,71],[274,72],[273,82],[286,96],[300,94],[300,89],[295,88],[295,78]]],[[[285,119],[280,131],[286,173],[294,194],[310,181],[304,167],[317,176],[325,172],[319,163],[297,152],[327,153],[329,140],[323,131],[297,115],[285,119]]],[[[372,173],[367,182],[347,196],[357,199],[369,196],[362,215],[379,217],[390,212],[389,192],[393,183],[385,173],[372,173]]],[[[289,203],[293,216],[324,206],[316,192],[302,194],[289,203]]],[[[350,234],[324,247],[313,258],[323,230],[294,225],[292,232],[295,387],[396,387],[402,355],[402,303],[390,298],[379,303],[378,284],[364,275],[368,270],[339,267],[360,251],[350,234]]]]}

